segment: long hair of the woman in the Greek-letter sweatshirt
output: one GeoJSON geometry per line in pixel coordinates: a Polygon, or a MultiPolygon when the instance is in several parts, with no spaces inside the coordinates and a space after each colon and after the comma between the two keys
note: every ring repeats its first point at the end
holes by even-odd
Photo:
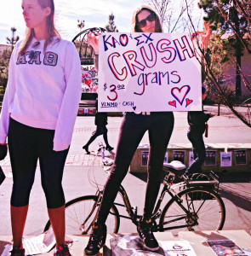
{"type": "MultiPolygon", "coordinates": [[[[43,51],[46,50],[48,44],[52,43],[54,36],[57,36],[60,39],[60,33],[56,30],[54,26],[54,0],[37,0],[37,3],[44,9],[46,7],[50,8],[50,15],[46,19],[46,38],[43,45],[43,51]]],[[[20,55],[24,55],[28,45],[31,43],[32,38],[35,37],[34,28],[26,28],[26,37],[24,38],[21,47],[20,55]]]]}

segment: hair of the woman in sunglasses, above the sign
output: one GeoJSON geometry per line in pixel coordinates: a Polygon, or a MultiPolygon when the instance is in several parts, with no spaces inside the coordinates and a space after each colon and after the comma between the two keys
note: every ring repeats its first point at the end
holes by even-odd
{"type": "Polygon", "coordinates": [[[140,5],[140,7],[136,8],[133,13],[133,19],[132,19],[132,32],[142,32],[140,27],[138,26],[138,15],[142,10],[147,10],[150,13],[153,13],[156,15],[156,24],[155,24],[155,32],[163,32],[163,27],[161,25],[160,19],[157,15],[157,13],[151,9],[151,7],[147,5],[140,5]]]}

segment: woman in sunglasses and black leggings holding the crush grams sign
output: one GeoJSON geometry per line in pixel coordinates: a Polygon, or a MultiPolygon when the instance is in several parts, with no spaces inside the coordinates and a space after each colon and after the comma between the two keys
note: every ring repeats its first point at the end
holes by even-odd
{"type": "MultiPolygon", "coordinates": [[[[140,8],[135,9],[132,21],[132,32],[163,32],[159,17],[148,6],[140,6],[140,8]]],[[[97,54],[99,50],[98,39],[93,34],[89,34],[88,39],[97,54]]],[[[87,255],[99,253],[100,248],[106,242],[106,218],[145,131],[149,133],[150,154],[144,214],[137,230],[148,250],[158,250],[157,240],[151,231],[151,215],[157,199],[163,160],[173,128],[174,114],[172,112],[125,114],[117,143],[114,165],[106,182],[97,221],[90,235],[88,246],[85,248],[87,255]]]]}

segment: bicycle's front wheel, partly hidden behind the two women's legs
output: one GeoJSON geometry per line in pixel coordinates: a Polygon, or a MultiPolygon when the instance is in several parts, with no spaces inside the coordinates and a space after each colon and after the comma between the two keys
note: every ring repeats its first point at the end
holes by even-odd
{"type": "MultiPolygon", "coordinates": [[[[66,235],[85,235],[90,233],[92,222],[100,205],[97,200],[98,196],[96,195],[86,195],[66,203],[66,235]]],[[[119,213],[117,207],[113,205],[106,220],[107,233],[117,233],[119,224],[119,213]]],[[[44,231],[50,227],[51,224],[48,220],[44,231]]]]}

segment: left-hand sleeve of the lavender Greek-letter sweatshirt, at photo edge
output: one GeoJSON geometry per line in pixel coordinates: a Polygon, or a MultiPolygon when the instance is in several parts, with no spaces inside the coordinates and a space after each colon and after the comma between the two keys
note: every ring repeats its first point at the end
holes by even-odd
{"type": "Polygon", "coordinates": [[[14,101],[14,95],[16,91],[15,60],[17,59],[16,57],[18,55],[18,45],[20,45],[20,42],[15,44],[14,50],[12,52],[12,55],[9,61],[9,77],[8,77],[8,83],[6,86],[5,94],[3,97],[3,105],[1,109],[1,115],[0,115],[0,143],[6,143],[6,138],[8,136],[8,131],[9,131],[9,116],[10,116],[9,107],[14,101]]]}

